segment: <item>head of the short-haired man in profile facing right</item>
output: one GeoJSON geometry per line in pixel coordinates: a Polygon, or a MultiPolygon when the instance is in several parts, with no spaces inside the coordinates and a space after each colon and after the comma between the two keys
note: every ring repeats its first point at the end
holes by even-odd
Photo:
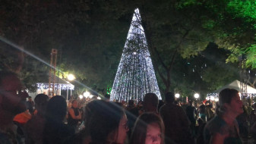
{"type": "Polygon", "coordinates": [[[235,89],[223,89],[219,94],[219,108],[217,114],[232,114],[235,117],[242,114],[242,101],[239,91],[235,89]]]}

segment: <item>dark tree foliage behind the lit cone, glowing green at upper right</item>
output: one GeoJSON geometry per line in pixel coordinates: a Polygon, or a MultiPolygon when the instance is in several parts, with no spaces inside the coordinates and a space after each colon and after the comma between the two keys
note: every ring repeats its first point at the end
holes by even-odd
{"type": "MultiPolygon", "coordinates": [[[[58,49],[61,76],[72,73],[81,83],[106,92],[115,78],[135,8],[141,12],[162,92],[182,89],[191,95],[192,90],[217,89],[237,79],[242,54],[247,55],[248,70],[256,65],[252,0],[3,0],[0,36],[44,61],[49,61],[51,49],[58,49]]],[[[4,42],[0,58],[0,68],[21,71],[30,89],[48,74],[49,67],[4,42]]],[[[251,85],[253,74],[251,70],[251,85]]]]}

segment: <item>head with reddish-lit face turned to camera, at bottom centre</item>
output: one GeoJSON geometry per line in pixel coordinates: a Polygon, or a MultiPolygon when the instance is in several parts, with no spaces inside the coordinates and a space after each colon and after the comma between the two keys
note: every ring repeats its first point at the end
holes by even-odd
{"type": "Polygon", "coordinates": [[[163,120],[156,114],[144,113],[137,118],[131,133],[131,144],[163,144],[163,120]]]}

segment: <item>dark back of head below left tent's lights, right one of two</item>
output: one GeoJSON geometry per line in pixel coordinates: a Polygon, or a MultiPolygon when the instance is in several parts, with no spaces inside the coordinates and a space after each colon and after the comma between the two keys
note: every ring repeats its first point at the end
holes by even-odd
{"type": "Polygon", "coordinates": [[[52,121],[63,121],[67,114],[67,103],[61,95],[55,95],[46,107],[46,118],[52,121]]]}

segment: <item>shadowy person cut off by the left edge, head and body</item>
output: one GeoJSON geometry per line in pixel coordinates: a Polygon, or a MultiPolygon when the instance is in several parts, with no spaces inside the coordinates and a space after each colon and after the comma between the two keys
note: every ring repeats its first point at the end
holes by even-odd
{"type": "Polygon", "coordinates": [[[21,92],[17,75],[0,71],[0,143],[22,143],[13,119],[26,111],[27,92],[21,92]]]}

